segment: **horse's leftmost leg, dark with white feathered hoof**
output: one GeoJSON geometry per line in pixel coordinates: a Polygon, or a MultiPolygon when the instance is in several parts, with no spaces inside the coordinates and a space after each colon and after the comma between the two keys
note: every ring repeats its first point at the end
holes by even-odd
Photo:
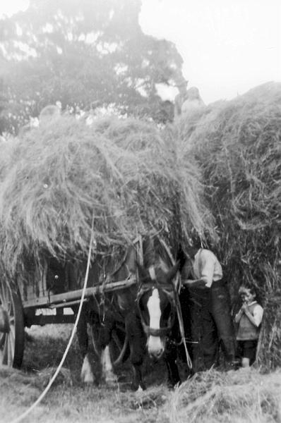
{"type": "MultiPolygon", "coordinates": [[[[77,309],[73,309],[76,314],[77,309]]],[[[80,348],[80,353],[83,358],[83,366],[81,369],[80,378],[85,384],[92,384],[95,381],[94,374],[92,372],[92,365],[90,363],[90,355],[88,351],[88,332],[87,332],[87,306],[83,305],[80,318],[77,324],[77,337],[80,348]]]]}

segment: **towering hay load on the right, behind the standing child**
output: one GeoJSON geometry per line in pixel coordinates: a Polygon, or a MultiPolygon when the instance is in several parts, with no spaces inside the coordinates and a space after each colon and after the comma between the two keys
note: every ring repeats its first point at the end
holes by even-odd
{"type": "Polygon", "coordinates": [[[241,283],[260,294],[258,364],[281,365],[281,84],[186,114],[169,137],[201,167],[234,311],[241,283]]]}

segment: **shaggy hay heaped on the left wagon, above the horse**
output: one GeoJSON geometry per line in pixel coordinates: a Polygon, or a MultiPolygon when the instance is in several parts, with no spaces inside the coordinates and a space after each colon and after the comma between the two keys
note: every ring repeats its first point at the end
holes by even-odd
{"type": "Polygon", "coordinates": [[[61,116],[10,142],[0,158],[1,260],[15,271],[26,252],[40,259],[87,257],[128,245],[138,233],[186,238],[208,219],[199,172],[177,166],[152,123],[61,116]]]}

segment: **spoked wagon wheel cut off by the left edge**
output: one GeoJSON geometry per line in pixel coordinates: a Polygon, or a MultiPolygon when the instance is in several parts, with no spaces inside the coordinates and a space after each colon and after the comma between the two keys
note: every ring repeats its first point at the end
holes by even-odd
{"type": "Polygon", "coordinates": [[[20,367],[25,341],[23,305],[8,281],[0,283],[0,315],[0,364],[20,367]]]}

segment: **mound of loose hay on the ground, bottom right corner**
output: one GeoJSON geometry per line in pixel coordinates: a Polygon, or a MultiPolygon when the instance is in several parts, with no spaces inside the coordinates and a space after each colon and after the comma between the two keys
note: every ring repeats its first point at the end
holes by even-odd
{"type": "Polygon", "coordinates": [[[174,391],[170,421],[280,422],[281,374],[201,372],[174,391]]]}

